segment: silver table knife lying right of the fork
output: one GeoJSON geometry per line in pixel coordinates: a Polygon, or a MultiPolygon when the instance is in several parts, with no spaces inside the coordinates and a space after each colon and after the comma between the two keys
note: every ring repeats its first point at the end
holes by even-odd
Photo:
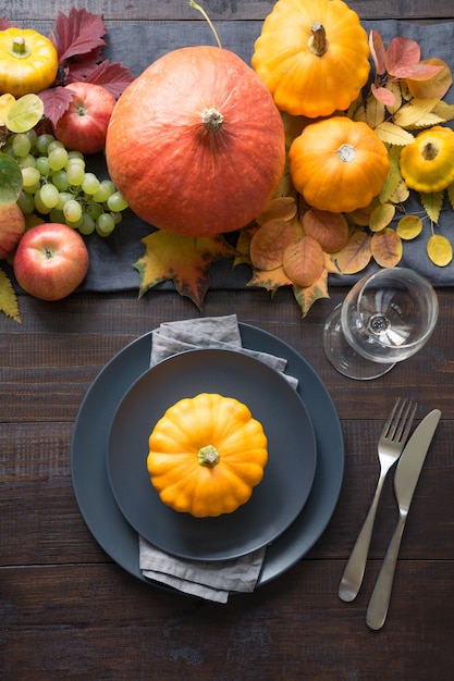
{"type": "Polygon", "coordinates": [[[366,622],[370,629],[381,629],[386,619],[405,521],[418,483],[419,473],[421,472],[440,417],[441,411],[433,409],[422,419],[409,438],[397,463],[394,476],[394,492],[398,505],[398,522],[367,608],[366,622]]]}

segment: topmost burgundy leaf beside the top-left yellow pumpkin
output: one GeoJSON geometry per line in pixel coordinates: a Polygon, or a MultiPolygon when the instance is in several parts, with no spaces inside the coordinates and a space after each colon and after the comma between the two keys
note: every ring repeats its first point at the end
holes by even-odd
{"type": "Polygon", "coordinates": [[[54,32],[50,39],[56,46],[59,64],[78,54],[87,54],[106,45],[102,36],[107,34],[106,24],[100,14],[91,14],[85,9],[71,8],[69,15],[59,12],[54,32]]]}

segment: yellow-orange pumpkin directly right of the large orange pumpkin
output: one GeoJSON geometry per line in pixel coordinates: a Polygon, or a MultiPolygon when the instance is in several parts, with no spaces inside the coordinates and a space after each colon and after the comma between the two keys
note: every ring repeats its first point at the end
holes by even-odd
{"type": "Polygon", "coordinates": [[[294,187],[314,208],[332,213],[369,206],[390,170],[375,132],[347,116],[310,123],[289,151],[294,187]]]}

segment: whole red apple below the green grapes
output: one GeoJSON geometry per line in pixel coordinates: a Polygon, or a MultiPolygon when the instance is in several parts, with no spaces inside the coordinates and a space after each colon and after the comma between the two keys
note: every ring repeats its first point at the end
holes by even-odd
{"type": "Polygon", "coordinates": [[[41,300],[60,300],[82,284],[88,262],[88,250],[78,232],[47,222],[25,232],[13,270],[26,293],[41,300]]]}

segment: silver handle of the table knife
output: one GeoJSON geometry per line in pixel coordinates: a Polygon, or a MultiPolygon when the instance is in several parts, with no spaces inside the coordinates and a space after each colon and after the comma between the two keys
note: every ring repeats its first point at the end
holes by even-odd
{"type": "Polygon", "coordinates": [[[405,528],[407,513],[401,513],[397,527],[390,542],[384,556],[383,565],[377,578],[376,585],[370,596],[367,608],[366,622],[370,629],[378,630],[384,624],[390,605],[391,592],[393,589],[394,573],[397,565],[398,549],[405,528]]]}

